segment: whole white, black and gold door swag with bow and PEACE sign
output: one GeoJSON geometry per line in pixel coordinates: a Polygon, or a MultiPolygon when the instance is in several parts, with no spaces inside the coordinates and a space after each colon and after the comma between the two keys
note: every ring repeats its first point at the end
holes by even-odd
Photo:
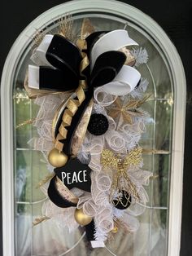
{"type": "Polygon", "coordinates": [[[85,19],[74,36],[71,18],[59,23],[59,33],[35,39],[24,82],[40,106],[39,137],[30,143],[50,170],[39,183],[48,199],[34,224],[85,226],[92,247],[104,247],[120,227],[137,230],[148,200],[151,172],[142,170],[139,146],[150,120],[141,108],[148,82],[137,71],[148,55],[124,29],[96,31],[85,19]]]}

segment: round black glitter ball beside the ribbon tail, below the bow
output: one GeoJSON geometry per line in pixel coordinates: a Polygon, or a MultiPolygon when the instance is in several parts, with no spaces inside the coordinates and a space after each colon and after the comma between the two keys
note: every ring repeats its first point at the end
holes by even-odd
{"type": "Polygon", "coordinates": [[[108,127],[109,122],[107,117],[105,117],[103,114],[95,113],[90,117],[87,130],[89,130],[90,134],[98,136],[104,135],[104,133],[107,132],[108,127]]]}

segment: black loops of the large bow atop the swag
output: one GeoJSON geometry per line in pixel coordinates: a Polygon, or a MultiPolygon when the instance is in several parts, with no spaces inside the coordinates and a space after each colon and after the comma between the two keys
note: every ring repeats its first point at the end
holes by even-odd
{"type": "MultiPolygon", "coordinates": [[[[89,59],[94,42],[103,33],[107,32],[95,32],[85,39],[87,42],[85,53],[89,59]]],[[[81,51],[63,36],[54,35],[46,51],[46,59],[53,67],[40,66],[40,89],[74,90],[79,85],[79,80],[84,78],[80,74],[81,51]]],[[[106,51],[99,55],[92,72],[90,73],[90,67],[84,70],[89,88],[93,90],[94,87],[111,82],[120,72],[125,60],[126,56],[120,51],[106,51]]]]}

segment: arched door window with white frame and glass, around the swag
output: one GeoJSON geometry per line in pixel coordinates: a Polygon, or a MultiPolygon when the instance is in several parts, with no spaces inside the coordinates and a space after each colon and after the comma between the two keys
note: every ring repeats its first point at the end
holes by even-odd
{"type": "Polygon", "coordinates": [[[145,109],[153,119],[140,143],[153,149],[144,156],[144,169],[153,172],[146,188],[149,202],[139,217],[138,231],[126,236],[120,232],[107,249],[118,256],[179,255],[185,74],[175,47],[154,20],[134,7],[108,0],[72,1],[46,11],[21,33],[7,57],[1,88],[4,255],[63,255],[73,247],[73,255],[110,255],[105,249],[88,249],[81,229],[69,235],[48,221],[32,227],[45,200],[36,186],[47,170],[41,152],[28,144],[37,131],[32,124],[17,127],[37,114],[37,105],[24,91],[24,77],[37,31],[54,31],[66,13],[72,15],[77,33],[87,17],[99,30],[128,30],[149,55],[147,64],[138,67],[149,82],[151,97],[145,109]]]}

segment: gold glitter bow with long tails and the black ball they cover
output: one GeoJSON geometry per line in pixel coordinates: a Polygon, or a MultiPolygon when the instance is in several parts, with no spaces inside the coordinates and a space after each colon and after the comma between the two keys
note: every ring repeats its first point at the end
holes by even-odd
{"type": "MultiPolygon", "coordinates": [[[[138,195],[137,188],[129,179],[127,174],[127,169],[130,166],[137,166],[142,162],[142,148],[137,147],[129,152],[127,157],[121,159],[119,156],[111,152],[109,149],[103,149],[101,156],[101,163],[103,168],[113,167],[116,169],[116,174],[113,176],[113,182],[111,185],[111,194],[110,201],[113,205],[118,205],[119,203],[125,208],[130,203],[130,196],[133,196],[136,201],[140,201],[140,196],[138,195]],[[114,197],[116,192],[126,191],[129,193],[129,197],[126,198],[127,201],[124,202],[121,200],[121,196],[117,196],[116,201],[114,202],[114,197]]],[[[125,196],[126,197],[126,196],[125,196]]]]}

